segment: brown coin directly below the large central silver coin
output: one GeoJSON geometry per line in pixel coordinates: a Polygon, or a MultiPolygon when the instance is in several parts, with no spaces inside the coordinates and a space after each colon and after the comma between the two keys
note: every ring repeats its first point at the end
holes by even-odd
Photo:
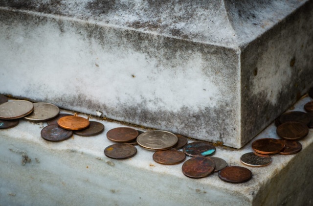
{"type": "Polygon", "coordinates": [[[185,160],[185,153],[176,149],[156,151],[153,154],[153,160],[160,164],[178,164],[185,160]]]}

